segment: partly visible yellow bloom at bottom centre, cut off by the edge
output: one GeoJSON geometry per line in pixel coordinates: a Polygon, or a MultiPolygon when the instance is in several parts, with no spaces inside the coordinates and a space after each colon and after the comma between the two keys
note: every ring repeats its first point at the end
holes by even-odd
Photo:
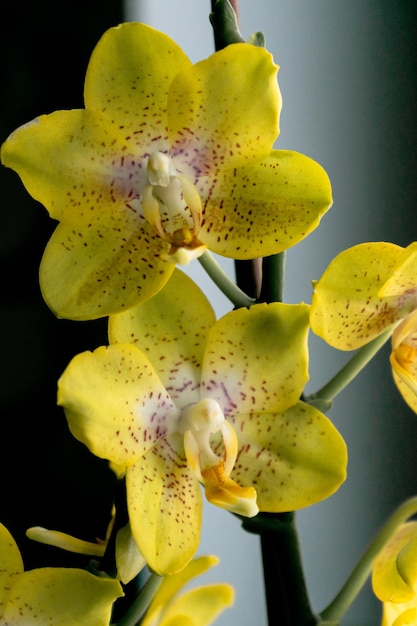
{"type": "Polygon", "coordinates": [[[218,558],[200,556],[181,572],[165,578],[141,626],[209,626],[234,600],[233,587],[218,583],[178,592],[196,576],[217,565],[218,558]]]}

